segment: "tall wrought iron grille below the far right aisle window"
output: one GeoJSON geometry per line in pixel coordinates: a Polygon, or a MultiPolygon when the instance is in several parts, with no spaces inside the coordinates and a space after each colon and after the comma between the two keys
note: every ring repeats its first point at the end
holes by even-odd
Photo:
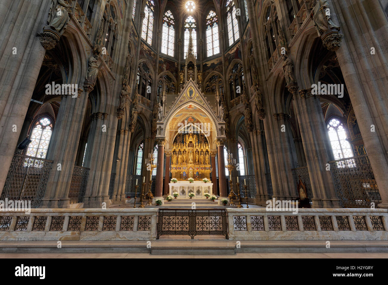
{"type": "Polygon", "coordinates": [[[379,189],[367,155],[330,161],[338,198],[345,208],[370,208],[381,203],[379,189]]]}

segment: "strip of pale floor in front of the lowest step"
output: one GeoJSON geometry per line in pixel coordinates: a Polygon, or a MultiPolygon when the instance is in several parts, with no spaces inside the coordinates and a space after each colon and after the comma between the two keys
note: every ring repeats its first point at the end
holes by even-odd
{"type": "Polygon", "coordinates": [[[2,258],[388,258],[387,252],[333,252],[333,253],[236,253],[227,255],[161,254],[150,253],[0,253],[2,258]]]}

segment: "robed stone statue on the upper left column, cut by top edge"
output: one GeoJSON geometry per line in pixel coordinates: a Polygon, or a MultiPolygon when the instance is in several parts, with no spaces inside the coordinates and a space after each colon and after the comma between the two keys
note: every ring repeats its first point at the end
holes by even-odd
{"type": "Polygon", "coordinates": [[[49,18],[47,22],[49,26],[54,28],[55,31],[62,34],[68,22],[70,21],[69,13],[67,9],[70,9],[70,5],[64,0],[52,0],[50,5],[49,18]]]}

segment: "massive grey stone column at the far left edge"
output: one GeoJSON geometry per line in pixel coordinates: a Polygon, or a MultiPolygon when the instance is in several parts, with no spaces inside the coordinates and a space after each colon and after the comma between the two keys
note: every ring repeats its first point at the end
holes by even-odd
{"type": "Polygon", "coordinates": [[[0,2],[0,193],[46,52],[36,33],[48,12],[46,0],[0,2]]]}

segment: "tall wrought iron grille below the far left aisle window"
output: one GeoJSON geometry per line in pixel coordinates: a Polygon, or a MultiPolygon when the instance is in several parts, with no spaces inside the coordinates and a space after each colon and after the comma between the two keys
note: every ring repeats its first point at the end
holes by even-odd
{"type": "Polygon", "coordinates": [[[51,160],[15,154],[0,200],[30,200],[31,207],[39,207],[46,192],[51,168],[51,160]]]}

